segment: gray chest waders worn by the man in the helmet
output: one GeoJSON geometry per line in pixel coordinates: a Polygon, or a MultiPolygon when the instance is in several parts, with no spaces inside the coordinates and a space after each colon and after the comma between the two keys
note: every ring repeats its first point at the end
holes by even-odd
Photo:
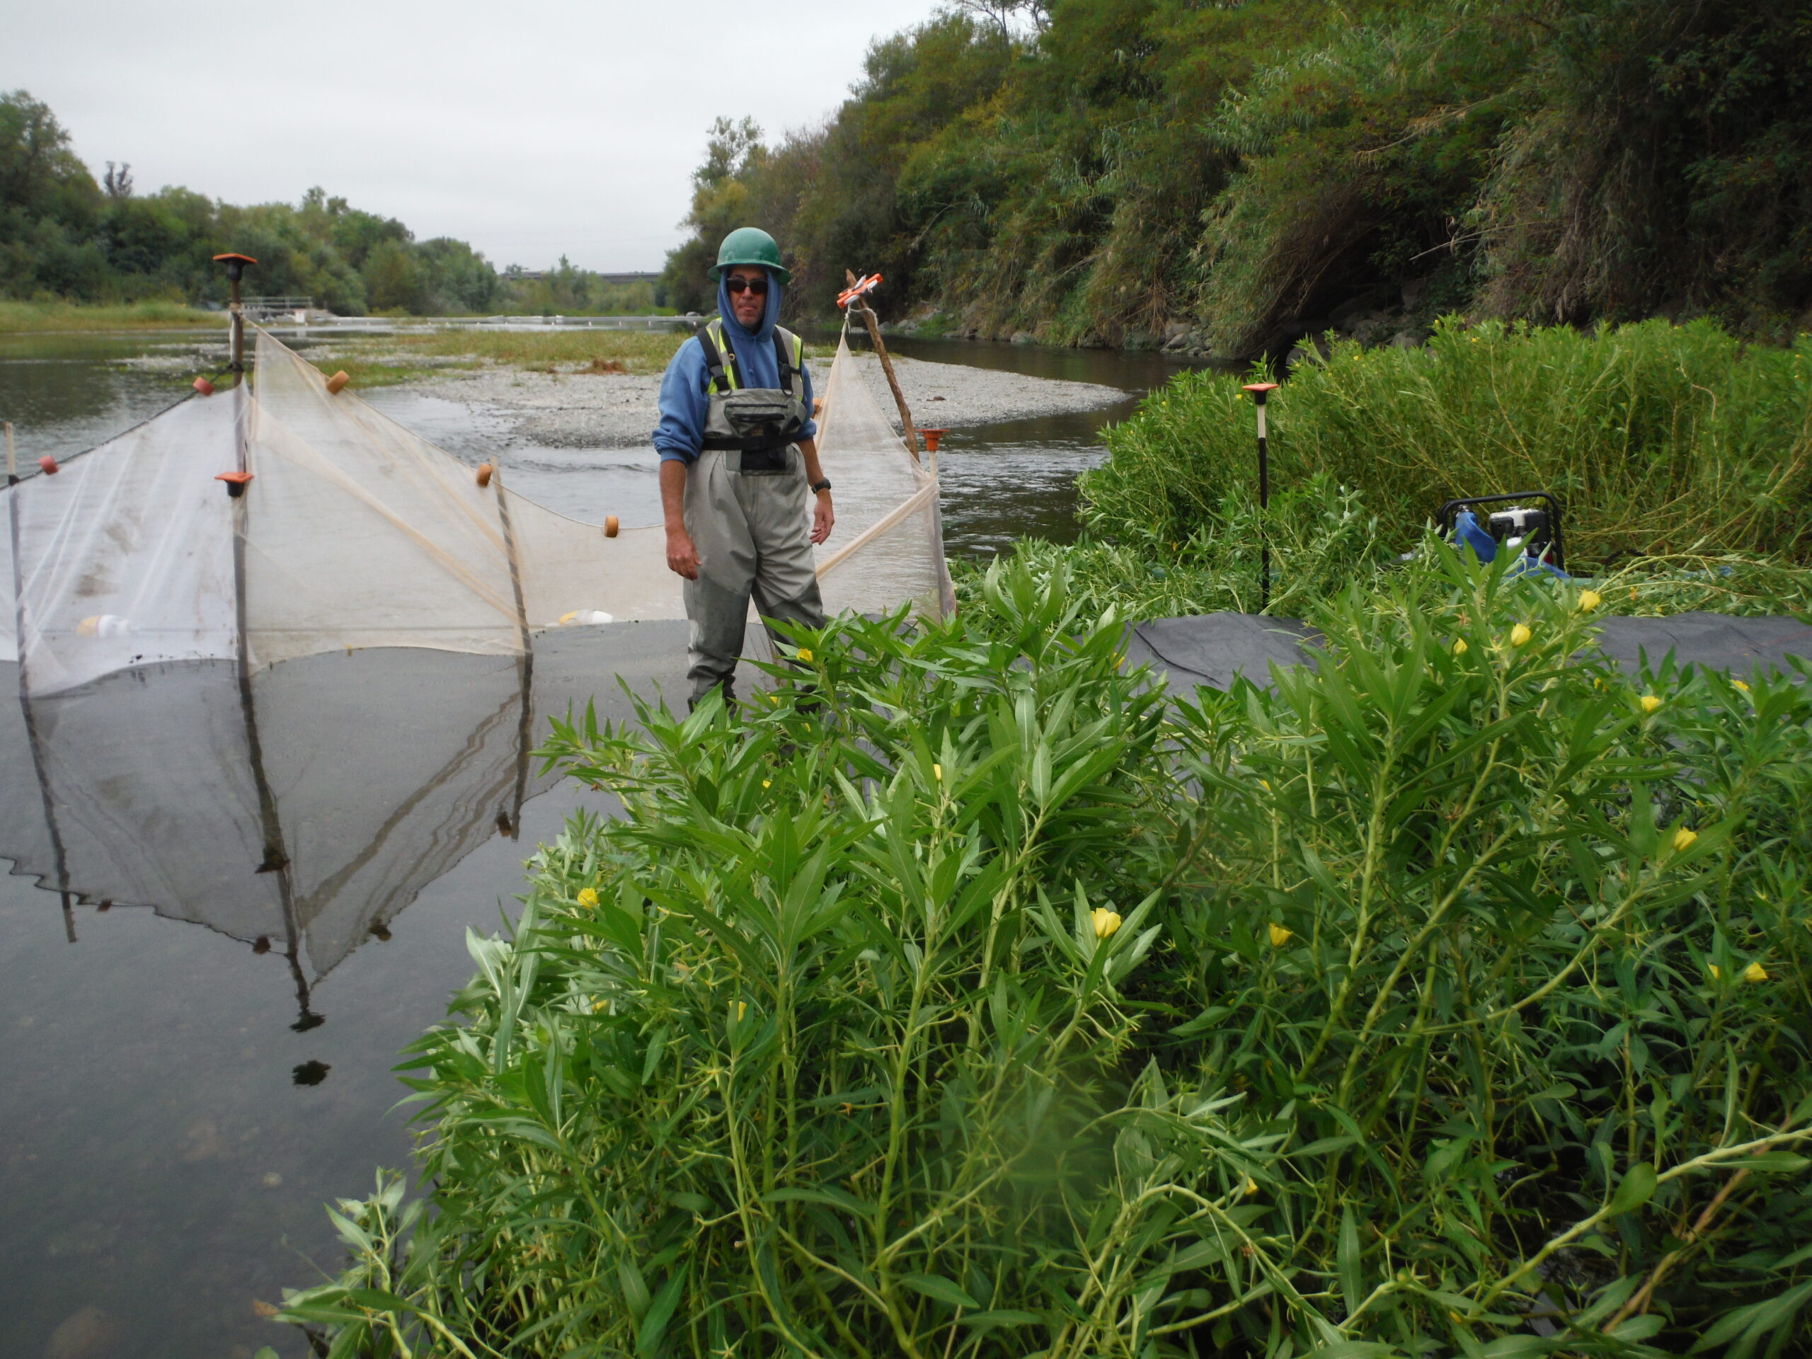
{"type": "MultiPolygon", "coordinates": [[[[694,703],[718,685],[725,699],[734,698],[750,594],[763,618],[824,625],[805,458],[795,446],[806,422],[795,391],[805,346],[776,330],[781,386],[745,388],[736,355],[723,348],[721,324],[714,319],[698,333],[710,391],[705,446],[685,482],[685,527],[699,560],[698,580],[685,583],[694,703]]],[[[772,627],[768,636],[783,640],[772,627]]]]}

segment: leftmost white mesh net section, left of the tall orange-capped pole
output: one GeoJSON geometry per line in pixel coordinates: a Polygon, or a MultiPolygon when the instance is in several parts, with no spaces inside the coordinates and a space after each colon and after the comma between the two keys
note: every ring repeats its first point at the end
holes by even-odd
{"type": "Polygon", "coordinates": [[[196,397],[0,493],[0,647],[33,692],[234,654],[232,513],[214,477],[236,466],[245,411],[243,390],[196,397]]]}

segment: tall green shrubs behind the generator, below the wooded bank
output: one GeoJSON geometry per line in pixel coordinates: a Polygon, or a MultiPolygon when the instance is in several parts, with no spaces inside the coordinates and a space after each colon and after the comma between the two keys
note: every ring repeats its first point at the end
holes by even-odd
{"type": "MultiPolygon", "coordinates": [[[[1187,373],[1109,429],[1084,516],[1127,544],[1180,542],[1256,480],[1236,379],[1187,373]]],[[[1406,547],[1442,500],[1549,489],[1569,562],[1812,547],[1812,341],[1747,346],[1711,323],[1437,326],[1421,350],[1343,342],[1270,397],[1272,486],[1359,487],[1406,547]]]]}

